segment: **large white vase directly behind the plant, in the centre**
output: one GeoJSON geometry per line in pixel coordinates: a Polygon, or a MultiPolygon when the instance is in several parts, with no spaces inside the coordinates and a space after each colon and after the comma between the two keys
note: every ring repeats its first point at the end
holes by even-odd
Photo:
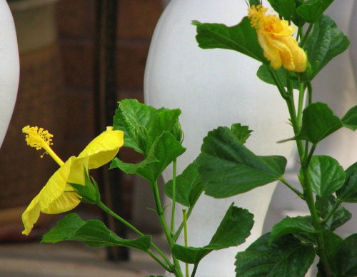
{"type": "MultiPolygon", "coordinates": [[[[292,143],[276,143],[292,136],[288,111],[275,86],[256,77],[260,65],[247,56],[222,49],[203,50],[196,42],[192,20],[238,24],[247,14],[246,1],[172,0],[162,14],[151,41],[146,64],[146,104],[180,108],[186,153],[178,158],[181,173],[200,153],[208,131],[241,123],[253,130],[246,146],[258,155],[288,157],[292,143]]],[[[164,181],[171,170],[163,174],[164,181]]],[[[261,236],[263,221],[276,183],[240,196],[215,199],[203,195],[188,219],[188,244],[205,246],[211,240],[228,206],[248,208],[254,214],[251,236],[242,246],[210,253],[203,258],[196,276],[235,276],[235,256],[261,236]]],[[[176,223],[182,211],[176,210],[176,223]]],[[[183,244],[183,238],[178,239],[183,244]]]]}

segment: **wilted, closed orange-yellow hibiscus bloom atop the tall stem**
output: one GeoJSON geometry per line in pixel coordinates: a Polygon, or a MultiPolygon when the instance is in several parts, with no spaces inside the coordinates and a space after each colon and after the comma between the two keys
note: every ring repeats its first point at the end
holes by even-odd
{"type": "Polygon", "coordinates": [[[264,56],[271,62],[273,69],[283,66],[289,71],[305,71],[306,53],[291,36],[295,28],[275,14],[266,15],[267,10],[261,5],[248,9],[248,18],[251,26],[256,29],[264,56]]]}

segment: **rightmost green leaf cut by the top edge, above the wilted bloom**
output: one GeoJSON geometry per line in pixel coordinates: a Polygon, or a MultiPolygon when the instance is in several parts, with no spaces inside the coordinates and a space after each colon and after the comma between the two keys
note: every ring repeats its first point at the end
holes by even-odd
{"type": "Polygon", "coordinates": [[[301,6],[298,6],[296,13],[308,23],[315,22],[333,0],[308,0],[303,2],[301,6]]]}

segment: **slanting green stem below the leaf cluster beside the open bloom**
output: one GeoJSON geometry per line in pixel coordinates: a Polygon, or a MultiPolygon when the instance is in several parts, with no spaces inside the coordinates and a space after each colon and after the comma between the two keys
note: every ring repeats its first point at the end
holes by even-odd
{"type": "MultiPolygon", "coordinates": [[[[156,213],[159,216],[159,220],[161,223],[161,226],[164,230],[165,236],[166,236],[166,240],[169,243],[169,247],[170,247],[170,251],[172,253],[172,248],[175,245],[175,241],[173,236],[171,236],[171,231],[169,230],[169,227],[167,226],[166,223],[166,219],[164,217],[164,210],[162,209],[161,206],[161,199],[160,199],[160,194],[159,194],[159,188],[157,185],[157,181],[154,181],[153,183],[150,183],[151,185],[151,191],[153,191],[154,193],[154,201],[155,201],[155,206],[156,206],[156,213]]],[[[180,263],[178,261],[177,258],[175,258],[175,256],[172,256],[173,261],[174,261],[174,271],[171,271],[172,273],[175,274],[176,277],[183,277],[182,271],[181,271],[181,267],[180,267],[180,263]]]]}

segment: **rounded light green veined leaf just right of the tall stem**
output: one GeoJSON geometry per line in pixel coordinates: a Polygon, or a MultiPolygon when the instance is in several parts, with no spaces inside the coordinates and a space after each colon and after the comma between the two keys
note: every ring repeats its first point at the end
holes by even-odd
{"type": "Polygon", "coordinates": [[[328,196],[343,186],[346,174],[338,161],[330,156],[313,156],[308,165],[311,186],[318,196],[328,196]]]}

